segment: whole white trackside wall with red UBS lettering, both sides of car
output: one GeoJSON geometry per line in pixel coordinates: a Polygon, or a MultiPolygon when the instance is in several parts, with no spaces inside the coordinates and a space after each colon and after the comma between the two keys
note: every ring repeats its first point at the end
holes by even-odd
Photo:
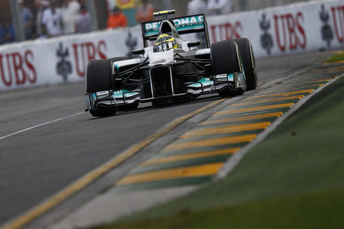
{"type": "MultiPolygon", "coordinates": [[[[344,0],[208,17],[211,42],[247,37],[256,57],[344,47],[344,0]]],[[[197,41],[195,35],[190,41],[197,41]]],[[[0,91],[85,80],[87,63],[143,47],[140,26],[0,46],[0,91]]]]}

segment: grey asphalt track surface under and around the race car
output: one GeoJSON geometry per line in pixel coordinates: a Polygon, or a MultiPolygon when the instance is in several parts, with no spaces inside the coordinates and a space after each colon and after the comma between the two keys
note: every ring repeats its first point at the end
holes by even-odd
{"type": "MultiPolygon", "coordinates": [[[[259,84],[329,55],[316,52],[259,59],[259,84]]],[[[93,118],[80,113],[85,110],[84,85],[0,93],[0,226],[169,122],[219,99],[204,96],[158,108],[147,103],[137,111],[93,118]],[[59,118],[65,119],[2,138],[59,118]]]]}

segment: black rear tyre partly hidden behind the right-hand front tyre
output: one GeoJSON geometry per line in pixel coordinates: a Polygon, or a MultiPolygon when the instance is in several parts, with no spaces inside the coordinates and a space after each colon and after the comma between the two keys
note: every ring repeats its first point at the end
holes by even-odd
{"type": "Polygon", "coordinates": [[[234,41],[239,46],[242,63],[244,64],[246,90],[254,90],[257,88],[257,72],[255,54],[253,54],[252,44],[246,38],[234,39],[234,41]]]}

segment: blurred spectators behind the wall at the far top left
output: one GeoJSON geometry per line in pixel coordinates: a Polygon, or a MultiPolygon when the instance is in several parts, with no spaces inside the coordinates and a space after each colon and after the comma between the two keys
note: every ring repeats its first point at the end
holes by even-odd
{"type": "MultiPolygon", "coordinates": [[[[83,0],[34,0],[34,8],[17,0],[25,39],[45,39],[91,31],[91,19],[83,0]]],[[[11,19],[0,23],[0,44],[16,41],[11,19]]]]}

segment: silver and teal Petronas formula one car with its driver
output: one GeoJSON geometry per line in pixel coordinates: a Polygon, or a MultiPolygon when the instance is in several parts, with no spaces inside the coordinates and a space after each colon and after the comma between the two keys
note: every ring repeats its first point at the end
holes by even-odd
{"type": "MultiPolygon", "coordinates": [[[[175,10],[154,13],[159,21],[141,24],[143,50],[138,58],[121,56],[87,65],[87,109],[92,116],[133,110],[140,102],[153,106],[184,102],[202,94],[227,97],[257,87],[255,57],[248,39],[210,45],[204,14],[167,19],[175,10]],[[201,41],[183,41],[182,34],[204,34],[201,41]],[[153,46],[148,41],[155,41],[153,46]]],[[[198,36],[199,37],[199,36],[198,36]]]]}

